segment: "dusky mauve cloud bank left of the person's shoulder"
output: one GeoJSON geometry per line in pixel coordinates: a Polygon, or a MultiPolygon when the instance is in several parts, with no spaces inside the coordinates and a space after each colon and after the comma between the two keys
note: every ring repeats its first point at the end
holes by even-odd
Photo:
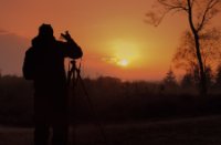
{"type": "Polygon", "coordinates": [[[0,30],[0,70],[2,74],[21,75],[21,68],[29,40],[0,30]]]}

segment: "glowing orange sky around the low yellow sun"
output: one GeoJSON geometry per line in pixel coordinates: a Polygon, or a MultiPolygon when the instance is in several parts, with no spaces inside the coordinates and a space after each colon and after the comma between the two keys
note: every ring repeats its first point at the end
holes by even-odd
{"type": "MultiPolygon", "coordinates": [[[[84,76],[161,80],[170,68],[187,21],[183,15],[173,14],[166,17],[158,28],[148,25],[144,20],[151,3],[152,0],[1,1],[0,34],[7,31],[28,41],[14,50],[20,55],[9,56],[10,63],[1,59],[0,69],[21,75],[23,53],[39,25],[45,22],[53,25],[57,39],[61,32],[69,30],[82,46],[84,76]]],[[[9,53],[6,45],[0,44],[0,52],[13,53],[9,53]]]]}

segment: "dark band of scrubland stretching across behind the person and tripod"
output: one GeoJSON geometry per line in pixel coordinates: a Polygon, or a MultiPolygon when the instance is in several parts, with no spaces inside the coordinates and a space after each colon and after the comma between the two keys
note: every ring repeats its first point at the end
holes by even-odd
{"type": "MultiPolygon", "coordinates": [[[[91,105],[104,122],[220,113],[221,97],[218,94],[202,99],[192,91],[194,89],[187,91],[179,84],[167,84],[166,80],[84,79],[85,90],[81,83],[71,90],[76,95],[70,96],[70,118],[75,123],[91,122],[91,105]]],[[[32,82],[11,75],[0,77],[0,124],[33,125],[32,82]]]]}

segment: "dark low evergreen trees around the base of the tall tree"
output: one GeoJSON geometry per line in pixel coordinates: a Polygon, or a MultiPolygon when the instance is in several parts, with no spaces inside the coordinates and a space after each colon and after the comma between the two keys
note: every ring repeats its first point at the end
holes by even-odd
{"type": "MultiPolygon", "coordinates": [[[[209,94],[220,94],[221,93],[221,65],[218,65],[215,70],[212,70],[210,66],[206,68],[206,81],[207,89],[209,94]]],[[[166,86],[178,86],[179,93],[181,94],[198,94],[200,86],[200,72],[199,69],[193,68],[189,71],[186,71],[186,74],[181,80],[177,80],[173,71],[170,69],[162,84],[166,86]],[[197,92],[198,90],[198,92],[197,92]]]]}

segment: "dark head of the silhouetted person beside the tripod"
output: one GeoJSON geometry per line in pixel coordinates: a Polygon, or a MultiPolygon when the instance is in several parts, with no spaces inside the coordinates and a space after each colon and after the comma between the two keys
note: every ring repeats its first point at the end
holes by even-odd
{"type": "Polygon", "coordinates": [[[39,28],[39,35],[43,38],[53,38],[54,31],[51,24],[43,23],[39,28]]]}

